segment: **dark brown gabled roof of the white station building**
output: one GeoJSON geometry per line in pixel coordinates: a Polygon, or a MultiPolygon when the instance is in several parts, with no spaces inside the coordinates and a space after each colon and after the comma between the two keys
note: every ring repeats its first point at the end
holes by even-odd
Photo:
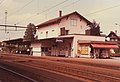
{"type": "Polygon", "coordinates": [[[43,22],[43,23],[37,25],[36,27],[40,28],[40,27],[44,27],[44,26],[47,26],[47,25],[52,25],[52,24],[59,23],[61,19],[65,18],[65,17],[69,17],[70,15],[73,15],[73,14],[76,14],[76,15],[78,15],[80,18],[84,19],[84,20],[88,23],[88,25],[91,24],[91,22],[90,22],[88,19],[86,19],[85,17],[83,17],[82,15],[80,15],[78,12],[75,11],[75,12],[72,12],[72,13],[70,13],[70,14],[63,15],[63,16],[61,16],[61,17],[57,17],[57,18],[48,20],[48,21],[46,21],[46,22],[43,22]]]}

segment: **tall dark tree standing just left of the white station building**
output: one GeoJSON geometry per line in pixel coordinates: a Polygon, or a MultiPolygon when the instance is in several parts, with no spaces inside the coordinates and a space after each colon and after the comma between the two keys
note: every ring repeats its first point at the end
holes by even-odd
{"type": "Polygon", "coordinates": [[[27,41],[33,41],[35,39],[36,27],[34,24],[29,23],[25,31],[24,39],[27,41]]]}

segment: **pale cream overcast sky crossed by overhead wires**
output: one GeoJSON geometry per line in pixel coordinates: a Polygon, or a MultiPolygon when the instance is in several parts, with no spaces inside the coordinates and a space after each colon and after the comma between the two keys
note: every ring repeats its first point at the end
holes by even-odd
{"type": "MultiPolygon", "coordinates": [[[[104,34],[117,30],[120,35],[120,0],[0,0],[0,25],[5,24],[5,16],[8,25],[38,25],[58,17],[59,10],[63,15],[77,11],[91,22],[94,19],[100,23],[104,34]]],[[[17,30],[7,27],[5,33],[0,27],[0,41],[22,38],[25,29],[17,30]]]]}

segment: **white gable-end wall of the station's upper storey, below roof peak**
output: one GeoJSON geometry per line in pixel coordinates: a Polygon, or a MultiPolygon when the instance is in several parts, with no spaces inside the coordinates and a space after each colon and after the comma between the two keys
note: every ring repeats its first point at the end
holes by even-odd
{"type": "Polygon", "coordinates": [[[85,34],[85,30],[89,27],[87,26],[87,22],[83,19],[80,19],[78,15],[70,15],[68,18],[64,18],[61,20],[59,27],[65,27],[66,30],[69,30],[69,34],[85,34]],[[71,25],[71,19],[77,20],[77,25],[71,25]]]}

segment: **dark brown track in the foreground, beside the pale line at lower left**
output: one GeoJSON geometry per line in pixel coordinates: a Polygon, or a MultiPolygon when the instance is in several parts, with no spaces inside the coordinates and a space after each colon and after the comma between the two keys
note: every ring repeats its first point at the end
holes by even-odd
{"type": "Polygon", "coordinates": [[[83,80],[78,80],[76,78],[65,76],[64,74],[58,75],[59,73],[55,73],[53,71],[51,72],[45,69],[37,69],[27,65],[17,64],[14,62],[0,61],[0,65],[1,64],[4,65],[6,68],[11,68],[15,71],[19,71],[18,73],[25,74],[25,76],[33,76],[32,78],[36,79],[37,82],[67,82],[68,80],[70,80],[71,82],[85,82],[83,80]],[[28,74],[25,72],[28,72],[28,74]]]}

